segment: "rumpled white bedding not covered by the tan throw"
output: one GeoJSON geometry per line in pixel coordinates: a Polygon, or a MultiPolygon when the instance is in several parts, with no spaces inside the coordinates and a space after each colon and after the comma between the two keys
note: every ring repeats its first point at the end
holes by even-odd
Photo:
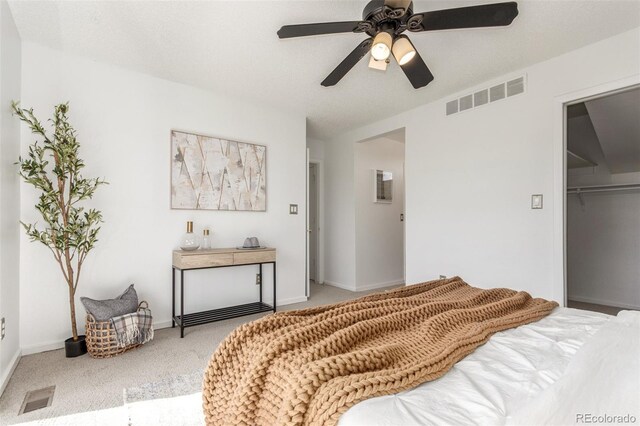
{"type": "Polygon", "coordinates": [[[634,423],[639,336],[640,312],[556,308],[494,334],[440,379],[356,404],[338,425],[564,425],[591,423],[588,416],[634,423]]]}

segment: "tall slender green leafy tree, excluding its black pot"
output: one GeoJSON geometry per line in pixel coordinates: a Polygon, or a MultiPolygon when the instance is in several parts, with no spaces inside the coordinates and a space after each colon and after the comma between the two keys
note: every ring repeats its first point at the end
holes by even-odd
{"type": "Polygon", "coordinates": [[[84,162],[78,157],[80,144],[67,117],[68,103],[55,106],[53,119],[49,120],[53,127],[51,136],[34,116],[33,109],[20,108],[17,102],[12,102],[11,108],[33,134],[42,138],[42,142],[31,144],[26,158],[20,157],[16,164],[22,179],[40,193],[35,208],[44,226],[20,223],[29,239],[44,244],[60,265],[69,287],[71,330],[73,340],[77,341],[75,294],[82,264],[98,241],[102,222],[100,211],[85,210],[80,203],[92,198],[96,189],[107,182],[85,178],[80,173],[84,162]]]}

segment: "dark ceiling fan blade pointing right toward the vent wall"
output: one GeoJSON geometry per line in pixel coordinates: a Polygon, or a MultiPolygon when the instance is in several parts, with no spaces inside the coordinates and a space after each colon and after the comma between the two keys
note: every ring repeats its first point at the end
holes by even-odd
{"type": "Polygon", "coordinates": [[[407,21],[407,26],[409,31],[501,27],[511,24],[516,16],[516,2],[492,3],[415,13],[407,21]]]}

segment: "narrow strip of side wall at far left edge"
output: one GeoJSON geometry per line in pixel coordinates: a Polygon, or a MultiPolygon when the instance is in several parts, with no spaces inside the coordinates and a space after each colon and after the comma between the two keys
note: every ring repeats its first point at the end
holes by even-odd
{"type": "Polygon", "coordinates": [[[20,98],[20,51],[11,11],[0,0],[0,317],[6,319],[6,336],[0,341],[0,394],[20,356],[20,186],[13,164],[20,155],[20,126],[11,116],[11,100],[20,98]]]}

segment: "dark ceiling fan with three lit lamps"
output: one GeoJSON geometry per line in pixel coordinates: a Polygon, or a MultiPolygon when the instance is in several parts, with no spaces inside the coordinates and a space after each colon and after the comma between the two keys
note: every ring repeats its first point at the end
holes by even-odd
{"type": "Polygon", "coordinates": [[[456,9],[413,13],[411,0],[373,0],[362,12],[362,21],[323,22],[285,25],[280,38],[304,37],[335,33],[366,33],[370,37],[360,43],[321,83],[334,86],[368,52],[369,67],[386,70],[391,55],[414,88],[426,86],[433,74],[416,51],[405,31],[437,31],[461,28],[500,27],[511,24],[518,16],[516,2],[492,3],[456,9]]]}

